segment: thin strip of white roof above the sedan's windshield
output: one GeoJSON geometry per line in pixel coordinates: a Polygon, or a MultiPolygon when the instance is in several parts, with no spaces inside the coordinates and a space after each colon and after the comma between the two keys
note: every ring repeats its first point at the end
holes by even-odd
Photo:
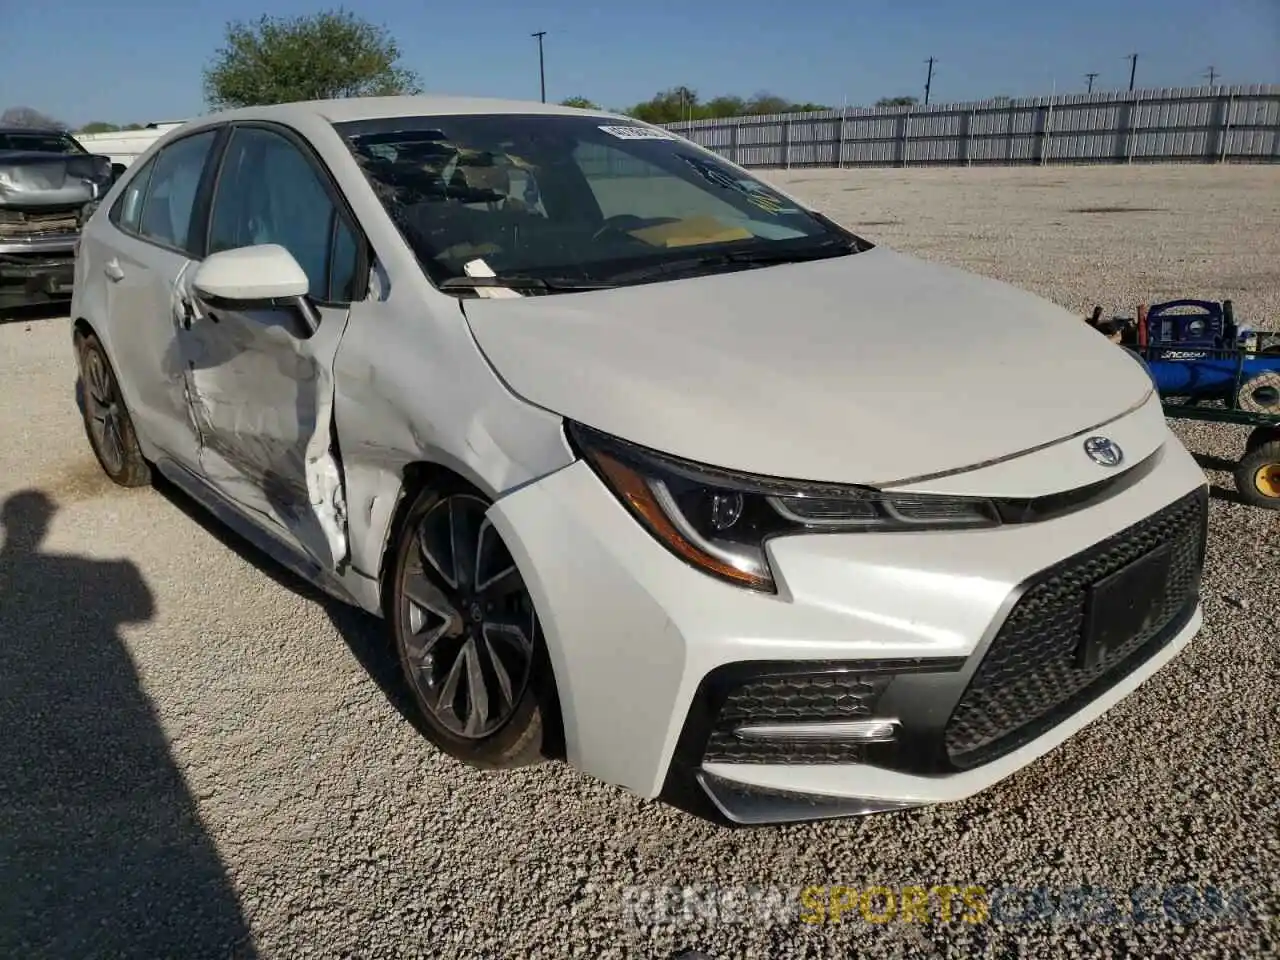
{"type": "Polygon", "coordinates": [[[580,110],[559,104],[536,100],[499,100],[490,97],[462,97],[416,95],[396,97],[343,97],[338,100],[306,100],[293,104],[246,106],[221,110],[200,118],[201,120],[229,119],[297,119],[303,114],[320,116],[330,123],[348,120],[374,120],[384,116],[431,116],[442,114],[559,114],[564,116],[616,116],[609,110],[580,110]]]}

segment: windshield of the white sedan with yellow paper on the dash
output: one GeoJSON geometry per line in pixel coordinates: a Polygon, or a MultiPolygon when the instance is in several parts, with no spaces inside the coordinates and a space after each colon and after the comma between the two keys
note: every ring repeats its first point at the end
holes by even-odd
{"type": "Polygon", "coordinates": [[[612,285],[870,246],[640,124],[495,114],[335,127],[436,284],[492,271],[612,285]]]}

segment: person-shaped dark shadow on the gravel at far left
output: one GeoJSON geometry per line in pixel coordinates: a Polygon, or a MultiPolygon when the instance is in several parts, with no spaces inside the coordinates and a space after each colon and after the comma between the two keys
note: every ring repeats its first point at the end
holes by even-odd
{"type": "Polygon", "coordinates": [[[255,957],[119,636],[128,561],[41,550],[54,503],[0,506],[0,956],[255,957]]]}

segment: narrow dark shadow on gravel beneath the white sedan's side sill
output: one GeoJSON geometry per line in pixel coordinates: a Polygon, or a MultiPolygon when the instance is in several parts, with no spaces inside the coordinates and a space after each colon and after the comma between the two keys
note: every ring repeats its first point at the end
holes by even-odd
{"type": "Polygon", "coordinates": [[[228,550],[246,563],[255,566],[285,590],[311,600],[324,609],[329,617],[329,622],[333,623],[334,630],[338,631],[343,643],[351,650],[352,657],[356,658],[356,662],[378,684],[387,701],[416,731],[425,733],[421,716],[413,703],[413,695],[410,692],[408,684],[401,673],[399,659],[396,657],[396,650],[388,640],[387,630],[381,621],[365,613],[362,609],[352,607],[349,603],[343,603],[330,596],[288,567],[276,563],[248,540],[210,516],[198,503],[159,474],[154,475],[152,485],[157,493],[163,494],[166,500],[180,509],[192,522],[198,524],[205,532],[228,550]]]}

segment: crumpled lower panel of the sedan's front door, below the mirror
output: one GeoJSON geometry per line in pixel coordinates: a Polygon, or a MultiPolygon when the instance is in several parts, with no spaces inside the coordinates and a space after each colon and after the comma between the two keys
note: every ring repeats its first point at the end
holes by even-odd
{"type": "Polygon", "coordinates": [[[333,443],[333,364],[346,307],[211,307],[188,284],[179,325],[201,471],[328,570],[347,559],[346,495],[333,443]]]}

